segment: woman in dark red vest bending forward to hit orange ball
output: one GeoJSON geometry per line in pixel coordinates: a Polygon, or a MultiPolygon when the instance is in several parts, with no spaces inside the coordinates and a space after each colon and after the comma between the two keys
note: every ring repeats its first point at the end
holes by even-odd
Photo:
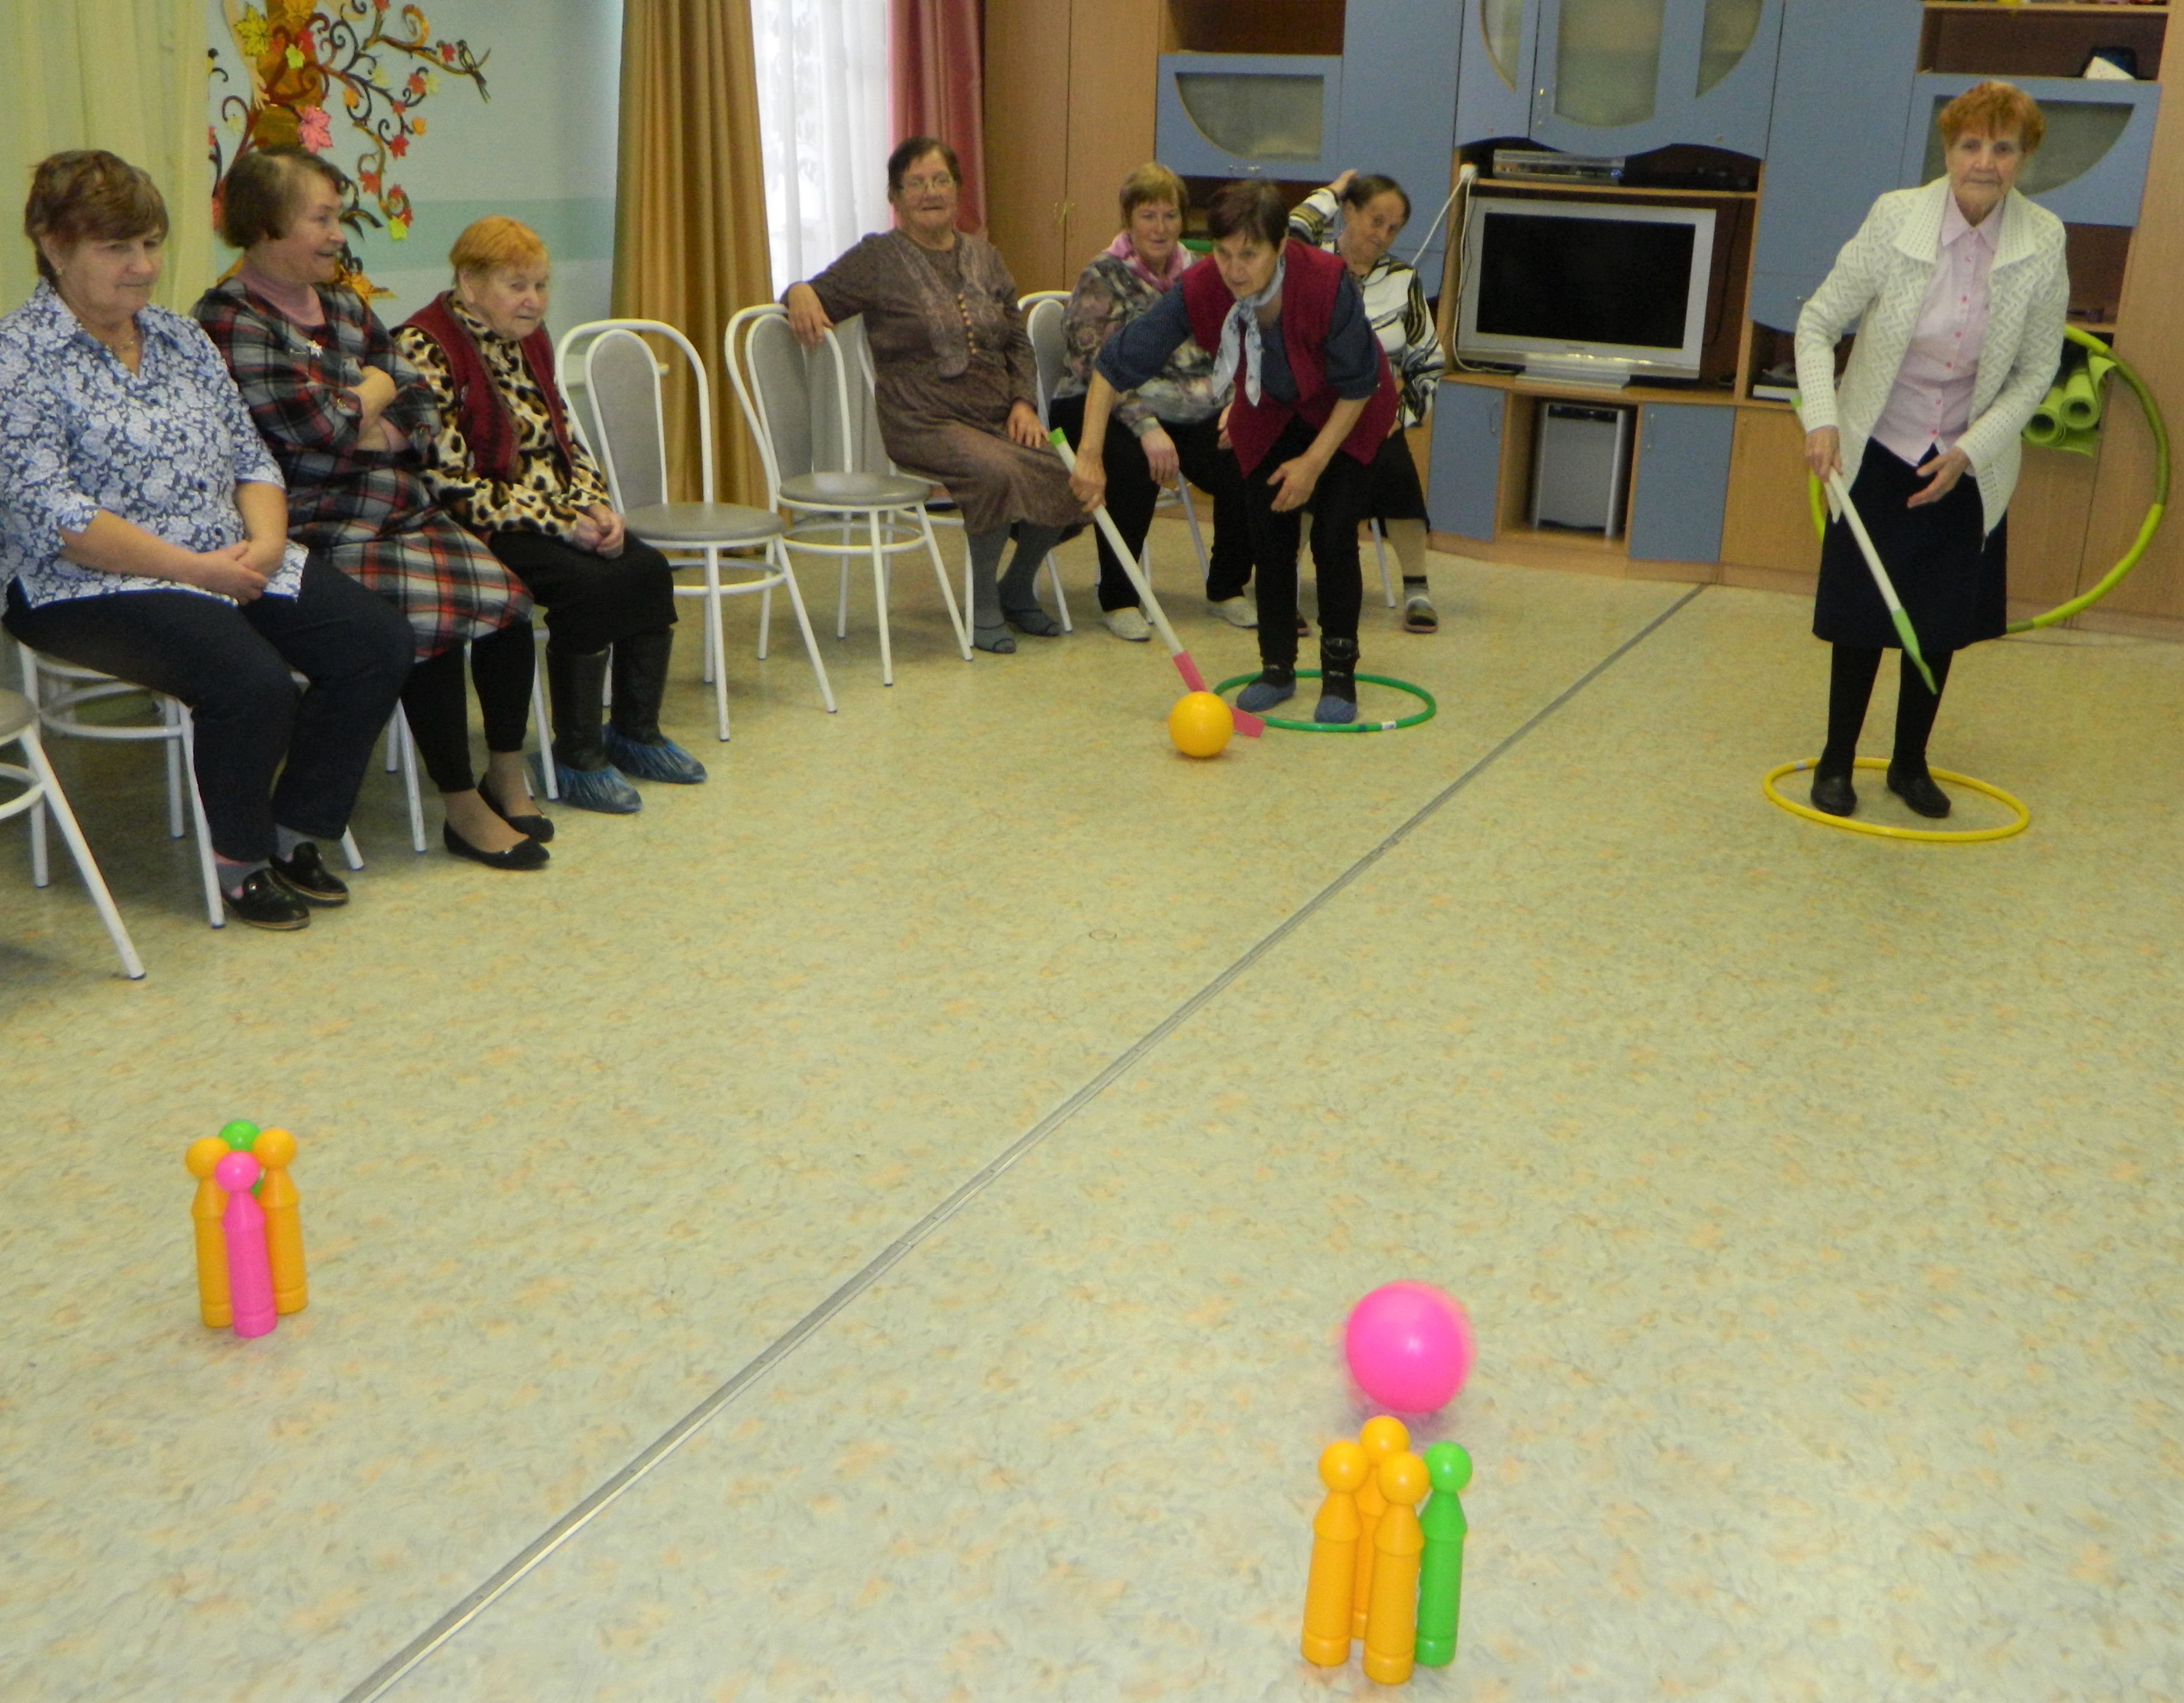
{"type": "Polygon", "coordinates": [[[1271,710],[1297,692],[1297,511],[1313,504],[1319,572],[1319,707],[1348,723],[1358,710],[1358,520],[1367,467],[1396,424],[1396,380],[1350,269],[1289,240],[1289,207],[1269,183],[1230,183],[1206,214],[1214,251],[1101,349],[1085,395],[1072,485],[1101,502],[1107,408],[1155,378],[1192,338],[1234,378],[1227,434],[1245,478],[1245,517],[1258,565],[1260,677],[1236,703],[1271,710]]]}

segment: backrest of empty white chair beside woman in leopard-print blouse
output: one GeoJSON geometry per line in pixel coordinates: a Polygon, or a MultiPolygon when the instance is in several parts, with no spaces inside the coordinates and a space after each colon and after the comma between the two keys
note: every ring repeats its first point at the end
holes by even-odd
{"type": "Polygon", "coordinates": [[[555,380],[577,428],[607,474],[614,507],[651,509],[668,500],[668,424],[664,367],[644,336],[681,356],[697,391],[699,498],[712,502],[712,380],[697,347],[660,319],[594,319],[561,334],[555,380]],[[574,352],[583,349],[581,365],[574,352]],[[572,382],[574,380],[574,382],[572,382]]]}

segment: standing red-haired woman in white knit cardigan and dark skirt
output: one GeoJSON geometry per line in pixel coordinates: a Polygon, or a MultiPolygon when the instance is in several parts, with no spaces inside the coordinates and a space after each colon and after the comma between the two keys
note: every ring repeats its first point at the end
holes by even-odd
{"type": "MultiPolygon", "coordinates": [[[[1889,758],[1889,790],[1922,817],[1948,814],[1926,736],[1950,655],[2007,622],[2018,432],[2055,378],[2070,303],[2062,221],[2011,188],[2040,146],[2040,107],[1981,83],[1939,127],[1948,177],[1880,196],[1797,314],[1806,463],[1819,478],[1852,474],[1850,498],[1933,668],[1928,692],[1904,659],[1889,758]],[[1854,323],[1837,389],[1835,345],[1854,323]]],[[[1865,703],[1896,629],[1841,515],[1821,544],[1813,633],[1835,646],[1813,806],[1848,817],[1865,703]]]]}

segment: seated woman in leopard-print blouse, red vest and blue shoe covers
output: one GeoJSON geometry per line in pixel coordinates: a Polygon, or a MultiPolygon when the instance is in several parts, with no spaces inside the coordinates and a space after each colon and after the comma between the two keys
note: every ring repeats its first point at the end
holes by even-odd
{"type": "Polygon", "coordinates": [[[642,799],[625,775],[705,779],[660,731],[675,579],[666,557],[622,531],[605,476],[568,430],[546,336],[546,245],[513,218],[480,218],[448,262],[454,288],[395,332],[439,402],[426,485],[546,611],[561,797],[629,814],[642,799]],[[614,716],[601,727],[609,655],[614,716]]]}

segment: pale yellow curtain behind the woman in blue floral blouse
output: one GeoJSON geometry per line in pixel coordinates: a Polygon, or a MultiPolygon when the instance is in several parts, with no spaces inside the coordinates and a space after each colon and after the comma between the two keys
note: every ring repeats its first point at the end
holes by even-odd
{"type": "Polygon", "coordinates": [[[0,0],[0,312],[37,282],[22,236],[31,168],[107,148],[166,196],[159,301],[188,312],[212,284],[205,0],[0,0]]]}

